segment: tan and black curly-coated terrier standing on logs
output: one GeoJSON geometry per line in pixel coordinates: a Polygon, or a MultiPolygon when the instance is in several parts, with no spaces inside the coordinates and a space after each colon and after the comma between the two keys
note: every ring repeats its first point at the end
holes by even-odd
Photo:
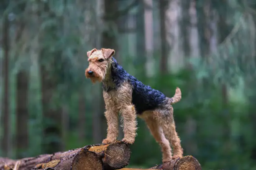
{"type": "Polygon", "coordinates": [[[161,146],[163,163],[181,158],[183,149],[175,129],[172,107],[172,104],[181,100],[179,87],[173,97],[166,97],[162,92],[129,75],[115,60],[114,54],[115,50],[106,48],[94,48],[87,52],[89,66],[85,70],[85,76],[93,83],[102,82],[103,88],[108,130],[107,138],[102,143],[116,141],[120,112],[123,118],[123,142],[134,143],[138,116],[145,120],[151,134],[161,146]],[[173,156],[169,142],[174,150],[173,156]]]}

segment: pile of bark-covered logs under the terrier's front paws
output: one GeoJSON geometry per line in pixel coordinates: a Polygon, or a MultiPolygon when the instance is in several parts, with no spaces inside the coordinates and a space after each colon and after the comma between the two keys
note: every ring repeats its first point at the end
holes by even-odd
{"type": "Polygon", "coordinates": [[[130,146],[118,141],[20,160],[0,158],[0,170],[114,170],[128,165],[130,156],[130,146]]]}

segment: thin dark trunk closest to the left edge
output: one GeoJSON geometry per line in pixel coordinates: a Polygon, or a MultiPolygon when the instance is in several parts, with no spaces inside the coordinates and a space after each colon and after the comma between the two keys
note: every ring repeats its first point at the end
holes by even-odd
{"type": "Polygon", "coordinates": [[[9,156],[10,152],[10,115],[9,115],[9,20],[8,15],[3,17],[3,75],[4,75],[4,97],[3,97],[3,155],[9,156]]]}

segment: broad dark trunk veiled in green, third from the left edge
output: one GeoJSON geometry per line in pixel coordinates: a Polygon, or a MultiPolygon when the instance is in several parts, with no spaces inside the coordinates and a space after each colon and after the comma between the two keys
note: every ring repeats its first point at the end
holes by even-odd
{"type": "Polygon", "coordinates": [[[42,9],[41,11],[37,11],[39,14],[38,20],[40,21],[41,19],[42,22],[52,21],[49,25],[46,25],[41,35],[41,41],[44,42],[44,46],[41,47],[39,63],[41,65],[41,94],[44,124],[42,148],[44,153],[54,153],[61,150],[62,111],[59,103],[54,105],[54,102],[56,102],[54,95],[58,95],[58,82],[64,78],[59,75],[63,62],[61,60],[61,49],[57,47],[59,40],[59,34],[57,32],[59,20],[54,11],[51,10],[49,1],[38,2],[38,5],[40,7],[39,9],[42,9]]]}

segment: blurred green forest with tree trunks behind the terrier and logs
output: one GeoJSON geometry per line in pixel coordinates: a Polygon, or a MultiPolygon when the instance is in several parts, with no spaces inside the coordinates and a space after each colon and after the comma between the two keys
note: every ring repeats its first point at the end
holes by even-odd
{"type": "MultiPolygon", "coordinates": [[[[1,157],[101,143],[102,88],[84,76],[93,47],[169,97],[181,88],[177,132],[202,169],[256,170],[255,0],[1,0],[1,157]]],[[[161,163],[138,127],[129,167],[161,163]]]]}

